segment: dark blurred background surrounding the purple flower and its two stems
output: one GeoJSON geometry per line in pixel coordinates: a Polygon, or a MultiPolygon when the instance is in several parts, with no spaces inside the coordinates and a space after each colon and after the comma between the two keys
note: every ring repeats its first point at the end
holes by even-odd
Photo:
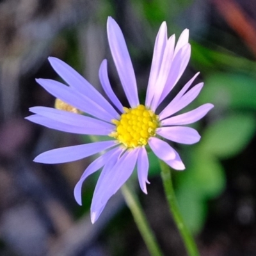
{"type": "MultiPolygon", "coordinates": [[[[60,79],[47,61],[56,56],[102,92],[100,62],[120,90],[106,38],[116,19],[131,54],[143,99],[157,31],[189,28],[192,56],[166,100],[195,72],[205,87],[193,106],[215,108],[194,125],[202,140],[175,145],[186,170],[173,172],[180,209],[205,256],[256,255],[256,2],[254,0],[1,0],[0,1],[0,255],[148,255],[124,199],[117,193],[97,223],[90,202],[97,174],[84,183],[83,207],[74,186],[92,159],[37,164],[51,148],[88,142],[24,120],[31,106],[53,106],[36,77],[60,79]]],[[[136,176],[136,175],[135,175],[136,176]]],[[[132,181],[133,178],[131,178],[132,181]]],[[[150,156],[148,195],[138,192],[165,255],[186,255],[168,213],[156,157],[150,156]]]]}

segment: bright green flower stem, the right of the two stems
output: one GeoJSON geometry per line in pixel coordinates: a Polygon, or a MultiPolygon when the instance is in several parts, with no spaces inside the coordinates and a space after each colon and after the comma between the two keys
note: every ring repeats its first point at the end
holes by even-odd
{"type": "Polygon", "coordinates": [[[161,168],[161,177],[163,180],[163,186],[164,186],[164,192],[166,199],[168,201],[170,212],[173,215],[173,220],[175,221],[175,224],[177,225],[177,228],[180,232],[180,236],[182,237],[182,240],[185,244],[186,250],[188,252],[189,256],[199,256],[198,249],[196,247],[196,243],[191,236],[188,228],[186,227],[184,220],[180,214],[179,206],[177,203],[177,199],[175,197],[173,184],[172,184],[172,175],[170,167],[164,163],[163,161],[160,161],[160,168],[161,168]]]}

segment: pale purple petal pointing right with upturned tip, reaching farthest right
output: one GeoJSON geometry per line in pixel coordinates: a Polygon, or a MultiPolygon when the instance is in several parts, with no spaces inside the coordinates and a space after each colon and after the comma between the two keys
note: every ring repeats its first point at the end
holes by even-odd
{"type": "Polygon", "coordinates": [[[214,106],[211,103],[204,104],[187,113],[172,116],[161,121],[162,126],[193,124],[203,118],[214,106]]]}

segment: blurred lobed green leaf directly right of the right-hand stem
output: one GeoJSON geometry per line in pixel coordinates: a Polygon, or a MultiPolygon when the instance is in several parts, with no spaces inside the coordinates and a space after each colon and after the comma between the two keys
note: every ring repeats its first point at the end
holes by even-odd
{"type": "Polygon", "coordinates": [[[176,178],[180,211],[191,232],[198,233],[204,227],[207,200],[225,189],[224,170],[217,159],[196,146],[191,153],[191,164],[176,178]]]}

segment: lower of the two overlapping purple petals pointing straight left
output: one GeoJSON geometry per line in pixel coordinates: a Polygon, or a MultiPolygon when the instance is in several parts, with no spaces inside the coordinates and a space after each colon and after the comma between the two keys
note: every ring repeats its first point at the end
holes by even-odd
{"type": "Polygon", "coordinates": [[[71,132],[71,133],[77,133],[77,134],[88,134],[88,135],[108,135],[113,131],[113,129],[109,129],[106,127],[81,127],[79,125],[68,125],[63,124],[61,122],[49,119],[45,116],[40,115],[31,115],[27,116],[25,119],[35,123],[44,125],[45,127],[48,127],[50,129],[55,129],[58,131],[63,132],[71,132]]]}

